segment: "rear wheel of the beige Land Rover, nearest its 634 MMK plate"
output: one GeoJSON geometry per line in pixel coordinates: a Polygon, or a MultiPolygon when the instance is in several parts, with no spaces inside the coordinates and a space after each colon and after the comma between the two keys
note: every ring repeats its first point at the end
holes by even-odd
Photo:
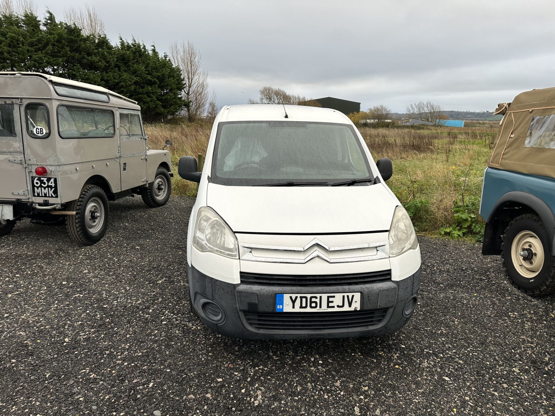
{"type": "Polygon", "coordinates": [[[85,186],[79,198],[69,202],[65,224],[73,241],[84,246],[93,245],[102,239],[108,226],[108,198],[97,185],[85,186]]]}

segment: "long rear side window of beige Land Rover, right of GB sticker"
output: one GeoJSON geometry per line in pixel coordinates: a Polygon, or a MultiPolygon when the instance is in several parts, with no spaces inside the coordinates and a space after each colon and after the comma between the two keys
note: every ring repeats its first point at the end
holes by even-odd
{"type": "Polygon", "coordinates": [[[110,110],[59,105],[58,130],[62,139],[114,137],[114,113],[110,110]]]}

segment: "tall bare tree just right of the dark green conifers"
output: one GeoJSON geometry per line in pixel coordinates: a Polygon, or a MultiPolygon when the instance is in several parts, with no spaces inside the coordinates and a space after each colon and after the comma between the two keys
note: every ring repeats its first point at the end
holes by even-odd
{"type": "Polygon", "coordinates": [[[172,43],[170,57],[183,74],[183,98],[190,103],[185,108],[185,114],[192,123],[204,115],[209,100],[208,74],[203,69],[203,57],[189,40],[172,43]]]}

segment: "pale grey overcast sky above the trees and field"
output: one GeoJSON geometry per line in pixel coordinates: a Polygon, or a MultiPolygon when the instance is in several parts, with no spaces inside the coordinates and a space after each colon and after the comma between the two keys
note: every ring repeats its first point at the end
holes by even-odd
{"type": "MultiPolygon", "coordinates": [[[[86,0],[39,0],[62,19],[86,0]]],[[[490,110],[555,85],[555,2],[349,0],[94,0],[108,38],[161,52],[191,40],[218,104],[258,98],[264,85],[366,109],[431,100],[490,110]]]]}

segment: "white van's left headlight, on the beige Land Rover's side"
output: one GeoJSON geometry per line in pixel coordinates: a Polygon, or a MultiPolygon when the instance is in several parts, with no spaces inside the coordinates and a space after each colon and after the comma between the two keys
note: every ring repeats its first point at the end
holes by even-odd
{"type": "Polygon", "coordinates": [[[225,257],[239,258],[237,237],[216,211],[203,206],[196,214],[193,246],[225,257]]]}

